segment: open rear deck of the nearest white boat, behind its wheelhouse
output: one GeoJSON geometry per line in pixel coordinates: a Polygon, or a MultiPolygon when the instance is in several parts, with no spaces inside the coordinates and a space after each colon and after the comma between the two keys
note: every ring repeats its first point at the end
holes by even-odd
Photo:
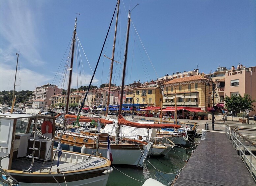
{"type": "MultiPolygon", "coordinates": [[[[53,161],[53,166],[51,172],[56,172],[57,171],[57,160],[53,161]]],[[[106,160],[102,158],[90,158],[88,160],[84,160],[79,163],[69,163],[69,162],[64,162],[60,161],[59,168],[61,172],[65,171],[76,171],[76,170],[83,170],[91,167],[98,167],[106,164],[106,160]]],[[[52,162],[45,162],[44,167],[47,167],[48,169],[51,167],[52,162]]],[[[22,158],[22,159],[17,159],[14,160],[12,163],[12,170],[17,170],[17,171],[22,171],[23,169],[28,169],[31,165],[31,159],[28,158],[22,158]]],[[[40,169],[43,165],[42,161],[34,160],[34,164],[32,167],[33,172],[40,172],[40,169]]],[[[44,169],[42,171],[43,173],[47,173],[48,170],[44,169]]]]}

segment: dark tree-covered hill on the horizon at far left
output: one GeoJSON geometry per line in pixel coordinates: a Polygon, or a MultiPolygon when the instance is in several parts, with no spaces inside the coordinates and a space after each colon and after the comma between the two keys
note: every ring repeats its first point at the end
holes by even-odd
{"type": "MultiPolygon", "coordinates": [[[[16,100],[15,103],[23,103],[29,100],[33,91],[15,91],[16,100]]],[[[13,91],[0,91],[0,104],[12,105],[13,91]]]]}

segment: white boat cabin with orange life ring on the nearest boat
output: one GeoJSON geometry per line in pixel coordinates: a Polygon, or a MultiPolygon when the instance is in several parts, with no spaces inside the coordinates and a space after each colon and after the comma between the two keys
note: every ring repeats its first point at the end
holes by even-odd
{"type": "Polygon", "coordinates": [[[0,114],[0,157],[10,157],[2,159],[2,168],[11,169],[15,159],[31,157],[34,141],[34,158],[52,161],[53,143],[50,139],[54,137],[55,119],[43,115],[0,114]],[[35,124],[39,133],[34,140],[35,124]],[[46,140],[42,136],[50,139],[46,140]]]}

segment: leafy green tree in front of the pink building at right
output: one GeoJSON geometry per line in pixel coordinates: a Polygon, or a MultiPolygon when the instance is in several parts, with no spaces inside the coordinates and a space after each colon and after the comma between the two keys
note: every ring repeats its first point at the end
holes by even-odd
{"type": "Polygon", "coordinates": [[[241,111],[244,112],[246,109],[254,111],[253,108],[255,106],[252,103],[256,102],[256,99],[253,100],[249,94],[244,94],[244,96],[241,96],[241,94],[232,94],[231,97],[225,94],[224,101],[225,109],[229,112],[232,111],[232,114],[235,115],[241,111]]]}

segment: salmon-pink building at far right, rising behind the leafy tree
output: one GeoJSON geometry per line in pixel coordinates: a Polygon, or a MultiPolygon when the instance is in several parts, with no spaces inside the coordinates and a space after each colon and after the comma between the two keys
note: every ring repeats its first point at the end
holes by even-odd
{"type": "MultiPolygon", "coordinates": [[[[235,68],[232,66],[230,72],[225,74],[225,94],[231,96],[232,94],[248,93],[252,99],[256,99],[256,66],[246,68],[245,66],[238,66],[235,68]]],[[[256,107],[256,103],[253,103],[256,107]]],[[[254,109],[255,110],[255,109],[254,109]]],[[[251,111],[249,116],[256,114],[255,111],[251,111]]]]}

